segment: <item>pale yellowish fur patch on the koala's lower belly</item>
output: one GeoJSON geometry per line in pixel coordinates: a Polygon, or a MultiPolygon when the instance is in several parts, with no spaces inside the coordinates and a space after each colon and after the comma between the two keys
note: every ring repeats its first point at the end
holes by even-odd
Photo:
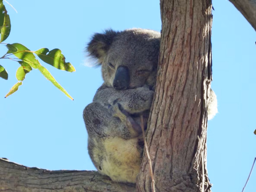
{"type": "Polygon", "coordinates": [[[99,172],[108,175],[113,181],[135,183],[141,163],[141,154],[137,149],[138,139],[125,140],[120,137],[104,139],[102,143],[105,147],[106,159],[103,160],[102,170],[99,172]]]}

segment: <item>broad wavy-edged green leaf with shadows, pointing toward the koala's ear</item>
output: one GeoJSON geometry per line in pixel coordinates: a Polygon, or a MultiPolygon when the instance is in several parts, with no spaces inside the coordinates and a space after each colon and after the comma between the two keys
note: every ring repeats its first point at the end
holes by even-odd
{"type": "Polygon", "coordinates": [[[70,64],[69,62],[66,63],[65,57],[63,54],[61,54],[60,49],[52,49],[51,51],[49,51],[49,49],[47,48],[42,48],[35,51],[35,54],[37,54],[38,57],[41,58],[44,62],[52,65],[57,69],[68,72],[76,71],[75,67],[73,67],[72,64],[70,64]],[[47,54],[47,52],[49,53],[47,54]]]}

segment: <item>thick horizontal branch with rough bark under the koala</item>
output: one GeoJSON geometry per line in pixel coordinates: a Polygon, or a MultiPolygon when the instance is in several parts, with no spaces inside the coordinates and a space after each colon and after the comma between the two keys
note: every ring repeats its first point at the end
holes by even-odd
{"type": "Polygon", "coordinates": [[[115,183],[95,171],[49,171],[0,158],[0,192],[135,192],[135,185],[115,183]]]}

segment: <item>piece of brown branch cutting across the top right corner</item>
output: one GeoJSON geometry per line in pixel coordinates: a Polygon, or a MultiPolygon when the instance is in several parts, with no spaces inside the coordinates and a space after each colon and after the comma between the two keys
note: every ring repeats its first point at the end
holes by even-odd
{"type": "Polygon", "coordinates": [[[229,0],[256,30],[256,0],[229,0]]]}

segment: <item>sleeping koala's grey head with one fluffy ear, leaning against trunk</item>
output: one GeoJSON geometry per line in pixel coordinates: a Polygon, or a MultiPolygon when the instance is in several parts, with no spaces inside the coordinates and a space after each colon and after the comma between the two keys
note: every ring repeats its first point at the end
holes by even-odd
{"type": "Polygon", "coordinates": [[[159,32],[127,29],[94,34],[87,51],[102,65],[105,84],[121,90],[154,86],[159,48],[159,32]]]}

